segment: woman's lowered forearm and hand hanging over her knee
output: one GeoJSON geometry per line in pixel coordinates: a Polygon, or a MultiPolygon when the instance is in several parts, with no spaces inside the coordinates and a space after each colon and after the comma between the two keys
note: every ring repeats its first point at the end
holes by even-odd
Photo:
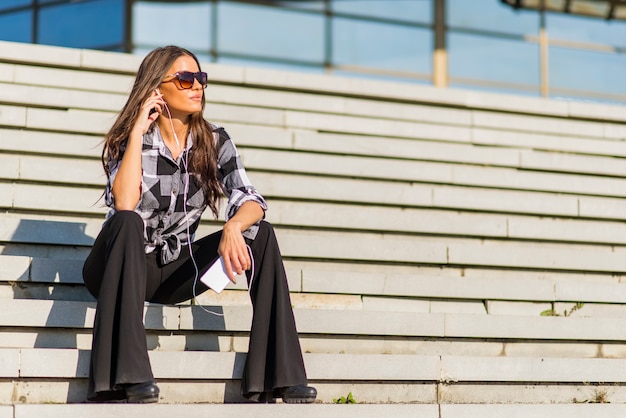
{"type": "Polygon", "coordinates": [[[218,253],[224,258],[224,267],[230,280],[235,283],[231,272],[243,274],[250,269],[251,260],[242,233],[263,219],[265,211],[257,202],[249,200],[224,224],[218,253]]]}

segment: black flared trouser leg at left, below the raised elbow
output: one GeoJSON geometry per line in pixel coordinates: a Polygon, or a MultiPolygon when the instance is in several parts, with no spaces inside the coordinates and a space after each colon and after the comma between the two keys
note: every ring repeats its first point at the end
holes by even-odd
{"type": "Polygon", "coordinates": [[[143,221],[131,211],[111,217],[85,260],[83,279],[97,298],[88,398],[120,385],[152,381],[143,308],[146,255],[143,221]]]}

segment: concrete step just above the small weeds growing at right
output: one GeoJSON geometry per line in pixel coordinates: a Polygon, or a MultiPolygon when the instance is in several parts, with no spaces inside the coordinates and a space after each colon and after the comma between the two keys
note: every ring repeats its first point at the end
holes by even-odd
{"type": "MultiPolygon", "coordinates": [[[[2,298],[93,300],[82,286],[68,287],[82,285],[82,259],[0,255],[0,260],[2,298]],[[16,281],[20,282],[17,286],[12,283],[16,281]],[[51,291],[50,286],[55,286],[54,291],[51,291]]],[[[302,297],[307,294],[311,297],[328,294],[338,298],[344,295],[342,303],[347,303],[351,297],[358,296],[358,308],[362,308],[368,298],[375,297],[383,300],[405,297],[422,302],[475,301],[481,305],[499,301],[538,304],[582,302],[588,304],[588,307],[612,304],[618,308],[626,297],[624,283],[619,282],[619,279],[609,280],[611,277],[602,276],[580,280],[573,275],[543,278],[502,271],[499,275],[494,272],[494,277],[459,277],[437,275],[428,269],[411,273],[402,267],[373,265],[369,269],[359,269],[339,263],[304,261],[286,261],[285,266],[292,297],[298,297],[299,294],[302,297]]],[[[245,281],[239,280],[236,285],[229,284],[226,293],[221,296],[207,292],[200,295],[198,301],[210,305],[228,303],[231,299],[226,295],[238,294],[230,290],[245,289],[245,281]]],[[[247,295],[241,297],[247,298],[247,295]]],[[[348,308],[350,306],[346,306],[348,308]]],[[[483,306],[482,312],[493,313],[493,310],[483,306]]]]}

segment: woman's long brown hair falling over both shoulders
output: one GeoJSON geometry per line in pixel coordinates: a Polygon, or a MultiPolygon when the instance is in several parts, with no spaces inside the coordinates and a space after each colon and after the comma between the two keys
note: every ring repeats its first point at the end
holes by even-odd
{"type": "MultiPolygon", "coordinates": [[[[185,48],[172,45],[151,51],[141,62],[128,100],[104,137],[102,165],[107,178],[110,175],[107,161],[120,158],[122,145],[128,140],[130,131],[139,117],[142,104],[154,89],[161,85],[163,77],[174,64],[174,61],[183,55],[192,57],[200,68],[200,62],[193,53],[185,48]]],[[[217,203],[222,195],[222,188],[217,179],[217,147],[213,140],[211,125],[203,117],[204,105],[203,90],[202,111],[193,113],[189,117],[190,133],[193,136],[189,170],[195,174],[196,180],[204,191],[206,204],[217,218],[217,203]]],[[[154,129],[154,125],[150,129],[154,129]]]]}

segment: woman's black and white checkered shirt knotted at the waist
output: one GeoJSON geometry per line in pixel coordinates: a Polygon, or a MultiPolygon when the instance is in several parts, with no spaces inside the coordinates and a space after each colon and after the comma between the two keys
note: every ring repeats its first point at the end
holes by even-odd
{"type": "MultiPolygon", "coordinates": [[[[213,126],[213,136],[218,147],[218,176],[224,194],[228,197],[226,220],[232,218],[245,202],[257,202],[263,210],[267,203],[254,188],[241,163],[234,142],[221,127],[213,126]]],[[[111,208],[109,219],[115,213],[111,187],[125,147],[118,160],[108,162],[109,180],[105,190],[105,203],[111,208]]],[[[163,142],[158,127],[144,135],[141,165],[143,169],[141,198],[135,212],[144,221],[146,253],[161,247],[161,260],[167,264],[178,258],[182,245],[191,241],[198,228],[200,216],[206,209],[205,196],[193,173],[187,176],[189,153],[193,152],[193,138],[187,138],[187,147],[175,161],[163,142]],[[191,181],[187,181],[187,179],[191,181]],[[185,187],[188,187],[185,190],[185,187]]],[[[246,238],[256,237],[259,225],[244,232],[246,238]]]]}

